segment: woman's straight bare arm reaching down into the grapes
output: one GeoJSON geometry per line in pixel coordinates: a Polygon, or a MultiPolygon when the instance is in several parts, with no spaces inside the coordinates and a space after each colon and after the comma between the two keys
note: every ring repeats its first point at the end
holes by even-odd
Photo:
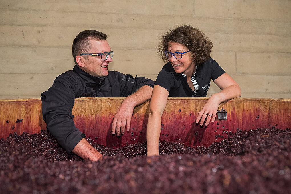
{"type": "Polygon", "coordinates": [[[148,156],[159,155],[159,137],[161,134],[161,117],[167,104],[169,92],[155,85],[150,100],[150,114],[146,130],[148,156]]]}

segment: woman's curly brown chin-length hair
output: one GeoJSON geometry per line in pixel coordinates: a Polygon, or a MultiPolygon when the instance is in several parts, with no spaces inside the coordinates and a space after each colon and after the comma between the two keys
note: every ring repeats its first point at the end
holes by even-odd
{"type": "Polygon", "coordinates": [[[170,41],[185,45],[192,52],[193,62],[196,66],[203,64],[210,58],[212,42],[205,37],[202,31],[192,26],[179,26],[160,38],[158,53],[164,62],[169,60],[165,51],[168,50],[168,43],[170,41]]]}

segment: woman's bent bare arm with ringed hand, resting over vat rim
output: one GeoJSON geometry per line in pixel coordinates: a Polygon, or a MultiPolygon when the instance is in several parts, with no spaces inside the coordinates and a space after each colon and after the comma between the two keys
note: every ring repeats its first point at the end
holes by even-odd
{"type": "Polygon", "coordinates": [[[220,103],[242,95],[239,85],[227,73],[223,73],[213,82],[222,90],[210,96],[202,110],[198,112],[196,123],[200,121],[200,125],[203,125],[206,118],[205,126],[207,126],[210,121],[212,123],[214,122],[220,103]]]}

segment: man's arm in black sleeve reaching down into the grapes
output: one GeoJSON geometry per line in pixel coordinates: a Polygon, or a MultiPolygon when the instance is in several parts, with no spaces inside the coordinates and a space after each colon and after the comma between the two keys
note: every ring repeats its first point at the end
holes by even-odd
{"type": "Polygon", "coordinates": [[[83,159],[95,161],[102,155],[86,141],[85,134],[80,132],[73,121],[72,108],[77,91],[76,78],[59,76],[54,85],[41,94],[42,116],[47,130],[68,154],[74,152],[83,159]]]}

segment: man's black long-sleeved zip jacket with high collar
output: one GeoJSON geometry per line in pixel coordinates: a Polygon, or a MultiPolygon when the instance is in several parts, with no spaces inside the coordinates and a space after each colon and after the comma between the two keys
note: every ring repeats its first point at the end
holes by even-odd
{"type": "Polygon", "coordinates": [[[94,77],[75,66],[58,76],[52,87],[41,94],[42,117],[47,130],[68,153],[85,137],[73,121],[75,98],[126,97],[144,85],[154,85],[154,81],[144,77],[108,72],[108,76],[94,77]]]}

